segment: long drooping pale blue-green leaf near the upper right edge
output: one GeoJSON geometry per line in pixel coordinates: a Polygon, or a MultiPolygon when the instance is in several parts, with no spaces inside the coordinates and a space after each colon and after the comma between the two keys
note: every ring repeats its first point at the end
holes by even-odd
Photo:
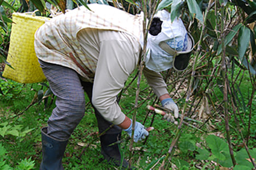
{"type": "Polygon", "coordinates": [[[250,29],[247,28],[245,25],[242,25],[238,34],[238,55],[241,61],[243,61],[243,59],[246,59],[244,56],[246,49],[249,46],[249,41],[250,29]]]}

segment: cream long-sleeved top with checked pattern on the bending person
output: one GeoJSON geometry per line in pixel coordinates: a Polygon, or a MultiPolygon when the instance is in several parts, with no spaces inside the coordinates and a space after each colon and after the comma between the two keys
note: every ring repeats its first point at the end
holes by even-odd
{"type": "MultiPolygon", "coordinates": [[[[141,45],[142,16],[106,5],[88,5],[56,16],[35,34],[38,58],[76,70],[81,79],[93,82],[94,107],[114,124],[121,124],[125,114],[116,96],[128,76],[137,67],[141,45]],[[70,57],[86,70],[79,66],[70,57]]],[[[144,69],[148,84],[157,96],[167,94],[159,73],[144,69]]]]}

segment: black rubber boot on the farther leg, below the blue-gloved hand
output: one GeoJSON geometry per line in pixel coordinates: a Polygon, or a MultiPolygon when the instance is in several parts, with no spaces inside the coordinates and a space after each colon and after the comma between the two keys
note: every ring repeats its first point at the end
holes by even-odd
{"type": "Polygon", "coordinates": [[[126,159],[121,161],[121,153],[119,151],[118,144],[112,145],[113,143],[121,139],[121,133],[119,134],[105,134],[100,137],[101,141],[101,154],[104,158],[116,167],[122,165],[122,169],[135,169],[134,167],[128,168],[129,163],[126,159]],[[110,146],[109,146],[110,145],[110,146]]]}

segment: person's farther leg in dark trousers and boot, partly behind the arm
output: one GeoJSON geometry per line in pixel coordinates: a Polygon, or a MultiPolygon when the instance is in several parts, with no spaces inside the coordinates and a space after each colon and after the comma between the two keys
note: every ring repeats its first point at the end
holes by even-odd
{"type": "MultiPolygon", "coordinates": [[[[84,87],[86,94],[91,100],[93,84],[89,82],[82,82],[82,86],[84,87]]],[[[106,121],[105,118],[101,116],[100,112],[98,112],[96,108],[94,108],[94,112],[96,114],[98,122],[98,131],[101,134],[104,130],[108,129],[110,125],[112,125],[112,122],[106,121]]],[[[119,126],[114,125],[111,129],[106,131],[104,135],[101,135],[101,154],[104,156],[106,160],[108,160],[108,162],[113,163],[117,166],[122,164],[122,167],[127,168],[128,162],[126,160],[123,160],[123,162],[121,162],[121,153],[119,151],[118,144],[109,146],[121,140],[121,133],[122,129],[119,128],[119,126]]]]}

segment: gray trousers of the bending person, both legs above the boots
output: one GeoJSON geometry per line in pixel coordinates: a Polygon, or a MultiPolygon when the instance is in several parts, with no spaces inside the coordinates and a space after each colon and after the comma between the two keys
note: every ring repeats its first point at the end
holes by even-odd
{"type": "MultiPolygon", "coordinates": [[[[48,120],[47,134],[59,140],[70,137],[73,130],[85,114],[85,92],[92,99],[93,83],[82,82],[75,70],[43,62],[39,59],[40,66],[46,76],[51,91],[56,96],[56,107],[48,120]]],[[[93,107],[94,108],[94,107],[93,107]]],[[[107,129],[112,123],[106,121],[94,108],[98,122],[99,133],[107,129]]],[[[114,125],[106,134],[118,134],[122,129],[114,125]]]]}

